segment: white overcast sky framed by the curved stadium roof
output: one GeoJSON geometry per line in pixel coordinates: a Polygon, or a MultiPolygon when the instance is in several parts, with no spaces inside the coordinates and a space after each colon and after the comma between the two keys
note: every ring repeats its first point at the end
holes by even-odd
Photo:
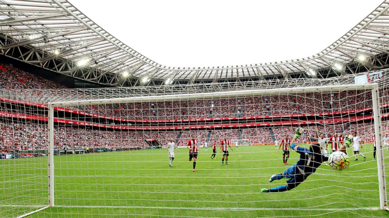
{"type": "Polygon", "coordinates": [[[170,67],[308,57],[382,0],[70,0],[114,37],[170,67]]]}

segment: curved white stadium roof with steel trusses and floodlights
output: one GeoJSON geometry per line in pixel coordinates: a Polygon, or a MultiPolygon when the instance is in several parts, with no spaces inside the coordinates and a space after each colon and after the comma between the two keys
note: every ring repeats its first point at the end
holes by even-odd
{"type": "MultiPolygon", "coordinates": [[[[306,58],[219,67],[169,67],[131,49],[66,0],[1,1],[0,53],[51,71],[114,86],[322,78],[387,67],[389,0],[323,51],[306,58]],[[328,75],[327,75],[328,76],[328,75]]],[[[136,42],[135,42],[136,43],[136,42]]],[[[146,54],[147,55],[147,54],[146,54]]]]}

